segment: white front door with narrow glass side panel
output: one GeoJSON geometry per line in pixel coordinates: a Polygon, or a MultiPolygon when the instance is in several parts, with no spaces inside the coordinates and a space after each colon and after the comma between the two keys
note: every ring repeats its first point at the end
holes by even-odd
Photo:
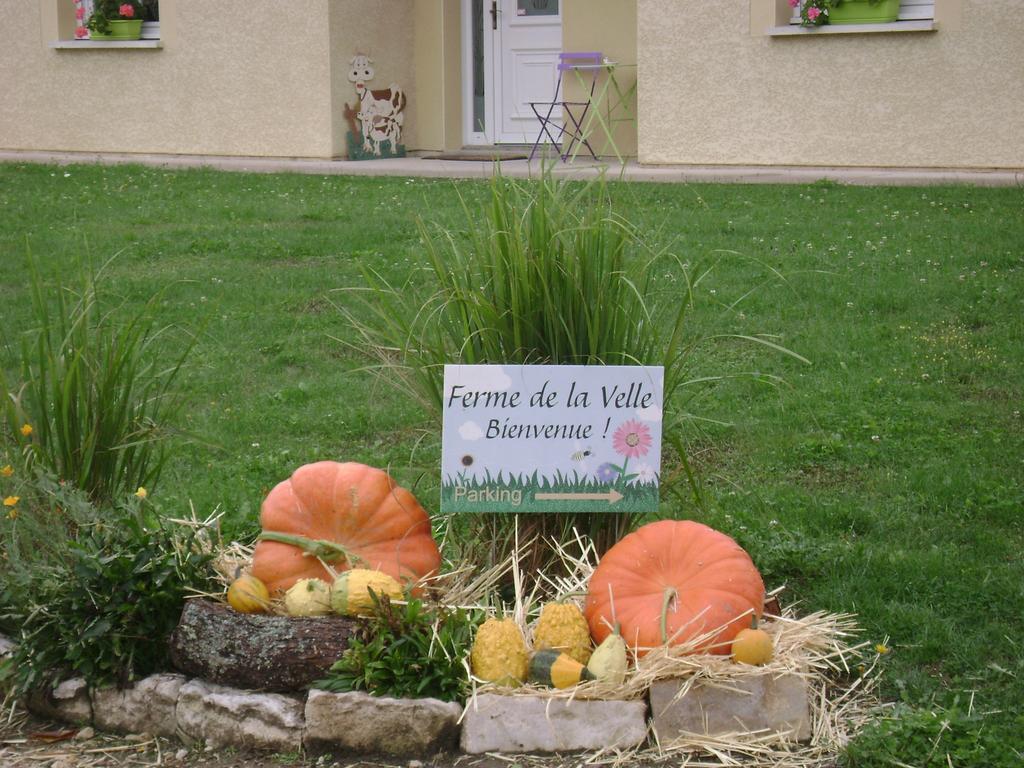
{"type": "MultiPolygon", "coordinates": [[[[562,49],[560,0],[464,0],[467,143],[531,144],[530,101],[551,101],[562,49]]],[[[560,111],[552,113],[559,120],[560,111]]]]}

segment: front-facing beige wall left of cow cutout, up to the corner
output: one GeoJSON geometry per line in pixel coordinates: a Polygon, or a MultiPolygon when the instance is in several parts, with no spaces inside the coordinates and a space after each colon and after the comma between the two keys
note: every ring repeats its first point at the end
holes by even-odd
{"type": "Polygon", "coordinates": [[[163,0],[156,50],[53,49],[71,0],[6,3],[0,147],[330,156],[329,2],[163,0]]]}

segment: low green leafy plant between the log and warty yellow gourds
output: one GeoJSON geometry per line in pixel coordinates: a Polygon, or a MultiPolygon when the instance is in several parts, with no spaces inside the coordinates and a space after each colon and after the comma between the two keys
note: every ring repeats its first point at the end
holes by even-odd
{"type": "Polygon", "coordinates": [[[374,596],[374,615],[360,637],[323,680],[330,691],[364,690],[377,696],[462,701],[469,685],[466,664],[482,611],[428,606],[410,599],[394,605],[374,596]]]}

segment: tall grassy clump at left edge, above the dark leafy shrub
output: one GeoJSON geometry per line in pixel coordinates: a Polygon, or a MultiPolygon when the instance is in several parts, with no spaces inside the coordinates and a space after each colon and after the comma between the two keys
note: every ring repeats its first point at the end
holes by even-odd
{"type": "Polygon", "coordinates": [[[96,502],[156,485],[167,460],[169,423],[180,401],[171,386],[191,349],[168,359],[156,325],[159,295],[121,318],[101,301],[96,275],[78,291],[58,286],[51,306],[32,267],[37,328],[23,338],[20,381],[0,366],[8,429],[30,463],[96,502]]]}

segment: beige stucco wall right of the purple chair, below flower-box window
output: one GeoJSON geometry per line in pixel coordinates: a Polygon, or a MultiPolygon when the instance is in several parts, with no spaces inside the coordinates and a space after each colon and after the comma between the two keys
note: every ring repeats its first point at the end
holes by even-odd
{"type": "Polygon", "coordinates": [[[1024,167],[1024,0],[813,37],[764,34],[777,0],[637,2],[643,163],[1024,167]]]}

